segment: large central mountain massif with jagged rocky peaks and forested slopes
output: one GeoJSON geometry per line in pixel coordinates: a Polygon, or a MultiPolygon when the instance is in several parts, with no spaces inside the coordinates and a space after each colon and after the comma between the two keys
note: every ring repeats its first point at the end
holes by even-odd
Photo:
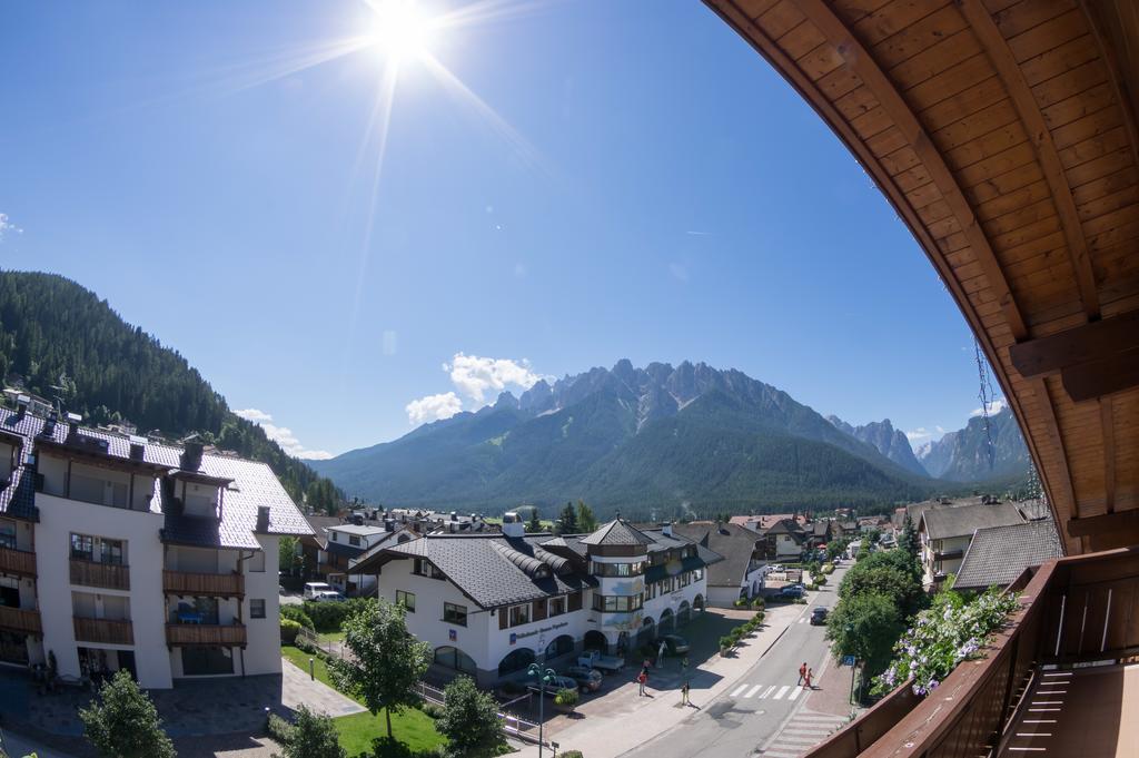
{"type": "Polygon", "coordinates": [[[464,511],[579,498],[599,514],[648,517],[885,508],[945,489],[888,419],[827,419],[741,372],[688,361],[620,360],[539,381],[312,465],[367,500],[464,511]]]}

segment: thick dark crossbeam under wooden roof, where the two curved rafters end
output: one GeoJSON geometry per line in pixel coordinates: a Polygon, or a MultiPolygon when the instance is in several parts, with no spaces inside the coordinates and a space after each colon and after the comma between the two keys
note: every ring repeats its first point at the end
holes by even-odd
{"type": "Polygon", "coordinates": [[[1139,348],[1139,310],[1015,344],[1009,360],[1025,378],[1103,360],[1139,348]]]}

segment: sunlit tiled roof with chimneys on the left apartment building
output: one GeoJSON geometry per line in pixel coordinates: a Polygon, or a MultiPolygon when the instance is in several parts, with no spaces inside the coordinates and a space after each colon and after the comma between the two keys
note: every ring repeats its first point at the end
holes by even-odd
{"type": "MultiPolygon", "coordinates": [[[[88,454],[93,453],[123,464],[146,465],[156,473],[161,473],[162,470],[181,471],[183,449],[180,447],[147,442],[142,448],[141,459],[133,459],[131,440],[121,434],[80,426],[75,430],[75,437],[69,438],[66,422],[57,422],[55,427],[44,434],[47,426],[49,426],[47,419],[39,416],[28,413],[16,414],[7,408],[0,408],[0,429],[23,437],[25,453],[39,443],[59,449],[82,442],[88,454]]],[[[269,507],[267,533],[302,536],[312,533],[296,504],[267,464],[204,453],[194,473],[230,482],[222,494],[221,519],[175,513],[162,479],[156,479],[150,510],[165,514],[162,530],[164,540],[206,547],[260,548],[261,544],[254,532],[257,527],[257,508],[263,506],[269,507]]],[[[0,512],[35,519],[34,478],[31,470],[21,465],[13,474],[11,483],[0,490],[0,512]]]]}

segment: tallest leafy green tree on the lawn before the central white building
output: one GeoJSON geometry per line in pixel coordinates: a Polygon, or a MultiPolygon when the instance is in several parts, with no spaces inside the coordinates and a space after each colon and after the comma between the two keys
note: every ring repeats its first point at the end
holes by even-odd
{"type": "Polygon", "coordinates": [[[407,611],[380,598],[344,620],[344,646],[352,655],[333,660],[337,685],[355,693],[372,716],[383,710],[392,737],[392,710],[419,704],[415,685],[431,666],[432,649],[408,631],[407,611]]]}

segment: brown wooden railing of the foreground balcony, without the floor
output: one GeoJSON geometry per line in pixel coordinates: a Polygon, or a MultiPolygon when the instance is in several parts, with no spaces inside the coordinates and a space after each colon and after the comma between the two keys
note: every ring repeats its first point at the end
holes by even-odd
{"type": "Polygon", "coordinates": [[[903,685],[806,757],[988,756],[1023,707],[1038,666],[1111,660],[1139,649],[1131,608],[1139,597],[1139,548],[1050,561],[1009,589],[1023,590],[1022,606],[984,658],[958,666],[924,700],[904,699],[900,693],[910,687],[903,685]]]}

